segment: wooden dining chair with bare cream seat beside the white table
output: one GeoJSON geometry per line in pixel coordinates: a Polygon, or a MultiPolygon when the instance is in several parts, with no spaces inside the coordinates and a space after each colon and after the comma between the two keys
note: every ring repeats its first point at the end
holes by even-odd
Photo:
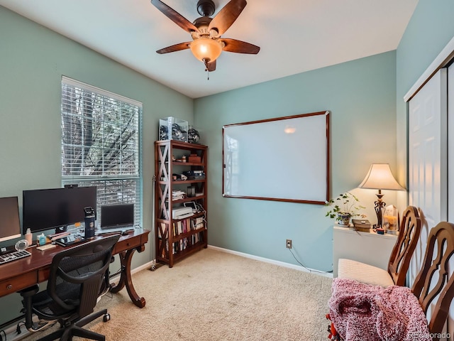
{"type": "Polygon", "coordinates": [[[389,256],[387,271],[360,261],[341,258],[338,261],[338,277],[383,287],[404,286],[411,256],[421,234],[421,226],[416,207],[406,207],[402,214],[399,236],[389,256]]]}

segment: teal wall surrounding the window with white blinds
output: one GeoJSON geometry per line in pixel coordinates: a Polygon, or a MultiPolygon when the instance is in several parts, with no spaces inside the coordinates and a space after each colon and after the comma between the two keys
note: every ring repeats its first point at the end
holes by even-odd
{"type": "MultiPolygon", "coordinates": [[[[175,116],[192,121],[192,99],[2,6],[0,197],[18,196],[21,206],[24,189],[61,186],[62,75],[143,102],[143,226],[151,229],[153,142],[159,118],[175,116]]],[[[149,242],[143,253],[133,256],[133,267],[151,259],[149,242]]],[[[0,306],[13,307],[19,297],[0,298],[0,306]]],[[[18,309],[13,311],[2,309],[0,324],[18,315],[18,309]]]]}

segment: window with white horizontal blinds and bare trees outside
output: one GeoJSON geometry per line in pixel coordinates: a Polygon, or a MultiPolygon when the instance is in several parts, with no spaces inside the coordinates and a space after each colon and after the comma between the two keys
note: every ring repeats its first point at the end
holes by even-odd
{"type": "Polygon", "coordinates": [[[62,77],[62,185],[96,186],[101,205],[133,203],[142,218],[142,103],[62,77]]]}

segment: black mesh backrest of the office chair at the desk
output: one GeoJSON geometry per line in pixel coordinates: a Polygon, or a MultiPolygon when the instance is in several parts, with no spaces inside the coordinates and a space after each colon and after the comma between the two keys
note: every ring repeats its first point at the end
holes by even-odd
{"type": "Polygon", "coordinates": [[[112,249],[120,235],[95,239],[54,256],[48,279],[48,295],[60,309],[79,317],[93,312],[105,281],[109,281],[112,249]]]}

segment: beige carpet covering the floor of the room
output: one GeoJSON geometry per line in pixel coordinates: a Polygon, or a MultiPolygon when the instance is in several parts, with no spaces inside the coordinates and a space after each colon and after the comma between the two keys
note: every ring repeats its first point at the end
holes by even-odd
{"type": "Polygon", "coordinates": [[[135,307],[126,289],[109,293],[96,309],[107,308],[111,320],[103,323],[99,318],[89,328],[106,340],[328,340],[324,316],[331,282],[317,274],[203,249],[172,269],[161,266],[134,274],[145,308],[135,307]]]}

